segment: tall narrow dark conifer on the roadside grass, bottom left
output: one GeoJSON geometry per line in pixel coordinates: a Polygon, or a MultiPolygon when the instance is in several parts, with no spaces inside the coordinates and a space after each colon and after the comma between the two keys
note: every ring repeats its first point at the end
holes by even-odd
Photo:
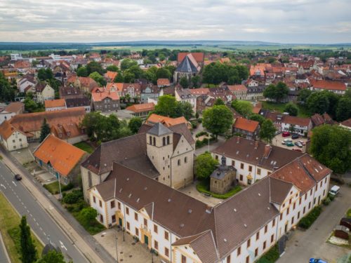
{"type": "Polygon", "coordinates": [[[37,249],[35,248],[27,218],[22,216],[20,222],[20,254],[23,263],[33,263],[37,260],[37,249]]]}

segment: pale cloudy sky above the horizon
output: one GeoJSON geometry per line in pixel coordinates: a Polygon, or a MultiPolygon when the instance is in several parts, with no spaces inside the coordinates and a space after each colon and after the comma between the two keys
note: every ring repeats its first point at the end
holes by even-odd
{"type": "Polygon", "coordinates": [[[0,0],[0,41],[351,43],[351,0],[0,0]]]}

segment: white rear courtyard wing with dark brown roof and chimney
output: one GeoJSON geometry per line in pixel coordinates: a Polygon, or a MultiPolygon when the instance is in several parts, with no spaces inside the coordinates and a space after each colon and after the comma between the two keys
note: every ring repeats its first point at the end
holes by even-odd
{"type": "Polygon", "coordinates": [[[211,152],[214,159],[220,161],[223,156],[227,166],[237,170],[239,184],[253,184],[262,180],[274,170],[302,156],[299,151],[291,151],[263,142],[234,136],[211,152]]]}

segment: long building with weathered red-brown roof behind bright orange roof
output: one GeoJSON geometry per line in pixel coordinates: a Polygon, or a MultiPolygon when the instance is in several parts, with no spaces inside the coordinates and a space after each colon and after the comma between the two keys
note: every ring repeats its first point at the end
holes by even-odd
{"type": "Polygon", "coordinates": [[[81,127],[85,114],[84,108],[62,109],[53,112],[18,114],[9,122],[27,136],[27,142],[37,142],[40,138],[41,126],[46,119],[53,135],[74,144],[88,138],[86,130],[81,127]]]}

